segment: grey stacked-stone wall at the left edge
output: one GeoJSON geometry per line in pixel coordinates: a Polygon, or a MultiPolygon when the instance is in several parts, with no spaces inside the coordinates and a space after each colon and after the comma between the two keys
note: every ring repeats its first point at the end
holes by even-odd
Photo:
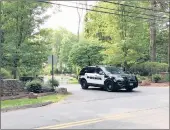
{"type": "Polygon", "coordinates": [[[1,96],[16,96],[24,91],[21,81],[15,79],[0,79],[1,96]]]}

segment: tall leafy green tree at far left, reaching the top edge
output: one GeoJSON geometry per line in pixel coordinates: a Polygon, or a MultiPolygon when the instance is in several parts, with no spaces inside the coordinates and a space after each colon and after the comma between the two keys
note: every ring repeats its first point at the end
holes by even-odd
{"type": "Polygon", "coordinates": [[[14,78],[18,77],[22,56],[21,46],[48,18],[42,15],[48,7],[46,4],[25,0],[3,2],[2,29],[5,32],[3,59],[8,60],[5,64],[13,70],[14,78]]]}

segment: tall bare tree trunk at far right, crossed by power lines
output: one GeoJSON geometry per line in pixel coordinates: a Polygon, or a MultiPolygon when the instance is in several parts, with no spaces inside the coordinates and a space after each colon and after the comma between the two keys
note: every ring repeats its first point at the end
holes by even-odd
{"type": "MultiPolygon", "coordinates": [[[[151,1],[152,9],[156,7],[156,1],[151,1]]],[[[155,15],[154,10],[151,11],[152,15],[155,15]]],[[[156,20],[153,17],[153,20],[150,20],[150,60],[152,62],[156,61],[156,20]]]]}

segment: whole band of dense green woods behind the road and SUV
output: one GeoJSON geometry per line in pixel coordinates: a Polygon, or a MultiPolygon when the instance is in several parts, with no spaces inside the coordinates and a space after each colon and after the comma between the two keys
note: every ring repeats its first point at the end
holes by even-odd
{"type": "Polygon", "coordinates": [[[39,28],[49,17],[44,13],[50,4],[3,1],[1,74],[13,78],[50,74],[47,57],[52,53],[57,57],[56,74],[77,73],[83,66],[96,64],[135,71],[134,66],[139,68],[145,62],[143,70],[156,63],[159,65],[152,72],[168,71],[168,2],[115,3],[97,2],[92,7],[96,12],[87,11],[84,31],[77,36],[65,28],[39,28]]]}

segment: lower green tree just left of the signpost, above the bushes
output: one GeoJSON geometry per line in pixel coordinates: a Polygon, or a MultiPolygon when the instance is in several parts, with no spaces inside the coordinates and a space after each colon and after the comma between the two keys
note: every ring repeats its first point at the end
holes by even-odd
{"type": "Polygon", "coordinates": [[[36,35],[27,40],[21,46],[20,75],[39,75],[43,63],[47,62],[47,57],[52,53],[51,29],[42,29],[36,35]]]}

